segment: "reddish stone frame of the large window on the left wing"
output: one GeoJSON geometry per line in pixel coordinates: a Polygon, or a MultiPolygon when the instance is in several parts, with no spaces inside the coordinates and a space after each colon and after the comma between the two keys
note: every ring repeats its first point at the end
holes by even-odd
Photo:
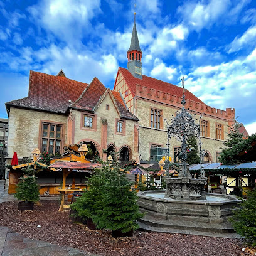
{"type": "MultiPolygon", "coordinates": [[[[63,153],[63,144],[65,142],[65,131],[66,131],[66,125],[63,122],[53,122],[49,120],[40,120],[40,125],[39,125],[39,136],[38,136],[38,148],[40,149],[40,152],[42,151],[43,147],[43,139],[48,139],[47,142],[47,152],[49,152],[49,142],[50,139],[54,139],[54,145],[53,145],[53,154],[56,154],[55,149],[56,149],[56,140],[60,141],[60,154],[63,153]],[[48,129],[50,129],[50,125],[55,125],[56,126],[61,126],[61,133],[60,133],[60,139],[56,138],[56,130],[55,130],[55,137],[50,137],[50,131],[48,134],[48,137],[43,137],[43,124],[48,124],[48,129]]],[[[43,152],[41,152],[43,153],[43,152]]]]}

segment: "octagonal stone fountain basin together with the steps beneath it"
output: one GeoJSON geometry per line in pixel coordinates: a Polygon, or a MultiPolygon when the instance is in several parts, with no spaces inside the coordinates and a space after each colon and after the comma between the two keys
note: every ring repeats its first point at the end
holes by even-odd
{"type": "Polygon", "coordinates": [[[196,201],[165,198],[165,191],[141,191],[138,196],[139,208],[146,213],[139,220],[142,229],[237,238],[228,222],[233,208],[239,207],[235,196],[206,193],[205,200],[196,201]]]}

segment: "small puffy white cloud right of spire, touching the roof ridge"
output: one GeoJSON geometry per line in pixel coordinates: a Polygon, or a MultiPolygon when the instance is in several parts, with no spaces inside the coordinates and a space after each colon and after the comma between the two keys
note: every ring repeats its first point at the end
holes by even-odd
{"type": "Polygon", "coordinates": [[[168,80],[173,80],[174,75],[177,75],[177,70],[174,67],[167,67],[162,60],[156,58],[154,61],[154,68],[152,69],[150,75],[152,77],[167,78],[168,80]]]}

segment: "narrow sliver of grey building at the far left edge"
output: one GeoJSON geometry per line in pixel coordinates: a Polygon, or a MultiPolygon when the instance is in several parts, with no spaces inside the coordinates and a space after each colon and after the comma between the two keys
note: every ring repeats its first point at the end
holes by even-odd
{"type": "Polygon", "coordinates": [[[0,150],[0,178],[5,179],[5,161],[7,156],[8,142],[8,119],[0,118],[0,143],[3,149],[0,150]]]}

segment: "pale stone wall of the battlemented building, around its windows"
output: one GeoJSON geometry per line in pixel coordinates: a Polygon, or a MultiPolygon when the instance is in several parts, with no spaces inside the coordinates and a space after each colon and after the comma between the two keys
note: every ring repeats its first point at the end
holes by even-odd
{"type": "MultiPolygon", "coordinates": [[[[151,144],[158,144],[161,145],[161,147],[166,147],[167,143],[166,122],[163,121],[163,129],[154,129],[150,127],[151,108],[162,110],[163,119],[167,119],[169,124],[171,124],[171,119],[173,118],[172,115],[175,116],[176,111],[180,109],[179,107],[171,107],[167,104],[161,104],[160,102],[136,99],[136,116],[140,119],[139,154],[141,154],[141,159],[143,160],[149,160],[151,144]]],[[[198,119],[196,122],[199,122],[199,117],[199,114],[194,116],[195,120],[198,119]]],[[[203,115],[202,119],[208,121],[210,124],[210,137],[201,138],[201,141],[203,142],[202,149],[205,149],[205,151],[208,152],[212,162],[216,162],[216,152],[220,152],[219,147],[223,147],[223,140],[215,139],[215,124],[223,125],[225,141],[225,139],[227,139],[228,120],[221,119],[216,116],[211,117],[210,115],[203,115]]],[[[181,142],[172,137],[169,147],[170,156],[172,158],[174,157],[174,147],[180,146],[181,142]]]]}

